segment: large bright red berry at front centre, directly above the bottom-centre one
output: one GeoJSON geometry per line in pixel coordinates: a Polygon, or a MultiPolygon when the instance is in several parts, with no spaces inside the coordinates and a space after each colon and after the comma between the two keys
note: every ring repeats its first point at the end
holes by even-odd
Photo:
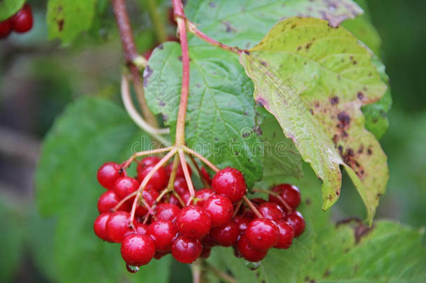
{"type": "Polygon", "coordinates": [[[198,205],[189,205],[180,210],[176,220],[177,230],[190,238],[203,238],[212,228],[210,215],[198,205]]]}

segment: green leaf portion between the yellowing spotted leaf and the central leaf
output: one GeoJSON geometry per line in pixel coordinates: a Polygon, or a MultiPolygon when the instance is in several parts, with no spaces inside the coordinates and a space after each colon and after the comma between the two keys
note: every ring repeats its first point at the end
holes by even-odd
{"type": "Polygon", "coordinates": [[[263,178],[256,187],[272,187],[284,177],[303,177],[302,159],[293,141],[284,136],[277,119],[263,110],[260,124],[263,143],[263,178]]]}

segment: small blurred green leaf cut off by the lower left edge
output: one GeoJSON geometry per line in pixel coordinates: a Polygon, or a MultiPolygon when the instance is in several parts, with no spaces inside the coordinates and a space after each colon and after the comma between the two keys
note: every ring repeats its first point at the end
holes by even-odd
{"type": "Polygon", "coordinates": [[[2,282],[10,282],[20,269],[24,222],[16,203],[6,196],[0,196],[0,227],[0,278],[2,282]]]}

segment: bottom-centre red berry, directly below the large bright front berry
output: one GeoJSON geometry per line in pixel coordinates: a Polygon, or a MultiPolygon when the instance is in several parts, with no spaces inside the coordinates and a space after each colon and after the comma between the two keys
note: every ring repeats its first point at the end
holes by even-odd
{"type": "Polygon", "coordinates": [[[173,241],[172,256],[181,263],[192,263],[203,250],[200,240],[180,235],[173,241]]]}

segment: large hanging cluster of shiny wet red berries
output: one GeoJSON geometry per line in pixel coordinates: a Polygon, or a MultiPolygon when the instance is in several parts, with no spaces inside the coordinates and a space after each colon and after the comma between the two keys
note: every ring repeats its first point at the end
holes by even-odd
{"type": "Polygon", "coordinates": [[[122,257],[131,272],[137,268],[129,266],[142,266],[169,253],[181,263],[192,263],[198,257],[207,258],[216,245],[232,246],[236,256],[257,262],[271,247],[287,249],[304,231],[304,219],[295,211],[300,203],[297,187],[280,184],[272,188],[269,201],[249,201],[244,197],[246,184],[239,170],[224,168],[210,179],[202,168],[200,175],[212,189],[197,190],[193,204],[184,205],[191,195],[181,166],[173,194],[162,194],[167,190],[172,164],[161,166],[149,179],[130,223],[133,195],[158,162],[157,157],[138,161],[135,178],[112,162],[98,170],[98,182],[108,191],[98,199],[100,215],[94,231],[105,241],[121,242],[122,257]],[[242,205],[243,197],[249,206],[242,205]]]}

